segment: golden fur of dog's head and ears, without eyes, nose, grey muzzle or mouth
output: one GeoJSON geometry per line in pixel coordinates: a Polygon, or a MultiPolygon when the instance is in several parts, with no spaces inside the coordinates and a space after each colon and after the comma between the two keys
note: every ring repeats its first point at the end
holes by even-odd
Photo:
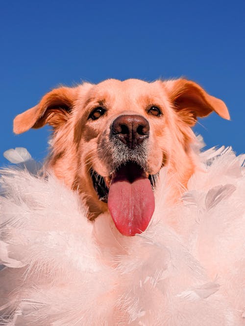
{"type": "Polygon", "coordinates": [[[167,184],[175,200],[183,192],[196,169],[191,145],[195,135],[191,129],[197,117],[216,111],[229,119],[225,104],[207,94],[203,88],[185,79],[155,81],[106,80],[98,85],[84,83],[77,87],[60,87],[46,94],[40,103],[19,114],[14,132],[21,133],[45,124],[53,127],[51,152],[47,161],[55,175],[78,191],[88,207],[88,217],[107,211],[107,204],[98,200],[90,170],[104,178],[112,170],[113,149],[110,126],[122,114],[144,116],[150,126],[147,147],[148,174],[157,174],[168,167],[167,184]],[[156,106],[161,116],[149,114],[156,106]],[[89,118],[93,109],[106,109],[97,120],[89,118]]]}

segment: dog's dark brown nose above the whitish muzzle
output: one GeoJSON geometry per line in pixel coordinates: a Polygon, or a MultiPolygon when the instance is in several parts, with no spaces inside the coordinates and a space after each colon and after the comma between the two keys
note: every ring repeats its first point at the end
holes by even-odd
{"type": "Polygon", "coordinates": [[[111,126],[111,135],[117,137],[130,149],[135,148],[149,137],[150,126],[141,115],[120,115],[111,126]]]}

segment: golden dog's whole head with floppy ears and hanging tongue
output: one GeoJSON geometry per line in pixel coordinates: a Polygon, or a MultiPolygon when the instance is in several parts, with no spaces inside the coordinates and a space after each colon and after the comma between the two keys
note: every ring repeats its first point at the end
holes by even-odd
{"type": "Polygon", "coordinates": [[[18,115],[14,131],[53,127],[48,164],[77,190],[93,219],[109,209],[118,230],[134,235],[154,212],[153,188],[162,167],[177,199],[195,169],[191,127],[224,103],[196,83],[106,80],[60,87],[18,115]]]}

